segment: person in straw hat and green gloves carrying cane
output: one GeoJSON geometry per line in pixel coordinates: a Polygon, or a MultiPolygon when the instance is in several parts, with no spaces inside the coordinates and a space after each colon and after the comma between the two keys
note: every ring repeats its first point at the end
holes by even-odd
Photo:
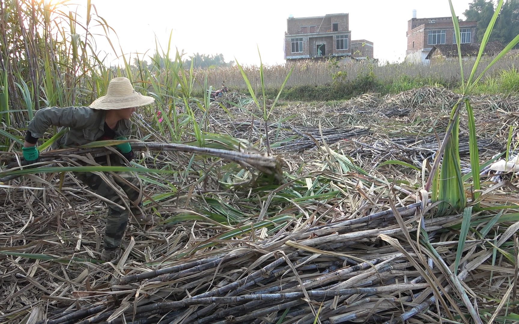
{"type": "MultiPolygon", "coordinates": [[[[28,126],[23,145],[23,158],[35,162],[38,159],[36,142],[50,126],[69,127],[61,137],[59,147],[84,145],[95,140],[127,139],[130,135],[130,117],[136,107],[154,102],[153,97],[136,92],[127,78],[114,78],[108,84],[105,96],[95,100],[88,107],[47,107],[36,111],[28,126]]],[[[133,159],[133,150],[128,142],[116,146],[126,160],[133,159]]],[[[124,159],[118,154],[96,158],[101,165],[121,165],[124,159]]],[[[142,222],[157,220],[145,216],[141,206],[141,184],[139,179],[129,172],[117,172],[112,184],[93,173],[75,173],[93,192],[107,198],[114,204],[108,204],[104,249],[101,258],[117,262],[121,256],[120,244],[128,224],[129,210],[142,222]],[[114,183],[115,182],[115,183],[114,183]],[[114,187],[117,190],[114,190],[114,187]],[[121,195],[119,193],[122,194],[121,195]],[[124,195],[126,193],[126,196],[124,195]],[[121,208],[125,207],[125,208],[121,208]],[[129,207],[129,208],[128,208],[129,207]]],[[[108,175],[105,174],[105,179],[108,175]]]]}

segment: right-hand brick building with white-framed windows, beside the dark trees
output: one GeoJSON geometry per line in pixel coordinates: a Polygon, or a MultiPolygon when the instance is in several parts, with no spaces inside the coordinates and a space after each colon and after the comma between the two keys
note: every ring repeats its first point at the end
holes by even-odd
{"type": "MultiPolygon", "coordinates": [[[[476,21],[459,21],[461,44],[474,43],[476,21]]],[[[427,55],[434,45],[456,44],[452,17],[413,18],[407,21],[405,59],[412,63],[428,63],[427,55]]]]}

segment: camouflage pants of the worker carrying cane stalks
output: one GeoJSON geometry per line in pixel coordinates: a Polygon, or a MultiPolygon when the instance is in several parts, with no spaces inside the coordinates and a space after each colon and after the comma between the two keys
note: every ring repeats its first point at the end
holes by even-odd
{"type": "MultiPolygon", "coordinates": [[[[121,199],[119,194],[117,194],[117,192],[110,185],[108,185],[106,181],[103,180],[103,178],[101,178],[101,176],[90,172],[77,172],[74,174],[93,192],[97,193],[98,195],[110,200],[111,202],[119,206],[125,207],[125,209],[121,209],[115,204],[107,203],[108,215],[106,217],[104,247],[108,249],[119,247],[121,244],[122,236],[124,236],[125,234],[129,217],[129,210],[126,207],[125,202],[121,199]]],[[[117,188],[119,192],[122,193],[121,195],[124,197],[126,203],[130,206],[132,214],[141,214],[141,184],[139,179],[134,174],[129,172],[116,172],[115,174],[119,175],[122,179],[125,179],[128,182],[130,182],[136,188],[139,188],[139,191],[136,191],[134,188],[128,185],[126,181],[121,180],[119,177],[111,176],[108,173],[104,173],[104,175],[108,179],[112,179],[112,185],[115,188],[117,188]]]]}

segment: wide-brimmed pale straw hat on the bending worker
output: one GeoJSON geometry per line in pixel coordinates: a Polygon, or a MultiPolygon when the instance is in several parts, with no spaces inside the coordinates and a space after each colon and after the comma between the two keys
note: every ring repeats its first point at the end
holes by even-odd
{"type": "Polygon", "coordinates": [[[108,84],[106,95],[90,104],[93,109],[124,109],[153,103],[154,97],[144,96],[135,91],[128,78],[113,78],[108,84]]]}

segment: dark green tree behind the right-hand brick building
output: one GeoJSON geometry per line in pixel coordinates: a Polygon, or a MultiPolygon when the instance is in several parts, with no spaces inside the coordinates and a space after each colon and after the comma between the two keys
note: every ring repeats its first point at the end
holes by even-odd
{"type": "MultiPolygon", "coordinates": [[[[473,0],[469,9],[463,12],[467,21],[477,21],[477,33],[474,41],[481,43],[490,19],[494,15],[494,2],[491,0],[473,0]]],[[[519,34],[519,0],[507,0],[501,7],[489,41],[510,43],[519,34]]]]}

